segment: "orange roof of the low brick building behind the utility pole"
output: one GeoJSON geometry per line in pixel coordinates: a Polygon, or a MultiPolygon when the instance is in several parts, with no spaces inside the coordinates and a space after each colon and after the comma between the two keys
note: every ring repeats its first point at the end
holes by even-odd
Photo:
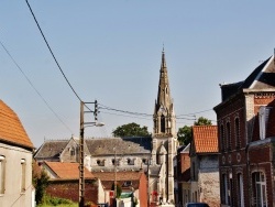
{"type": "MultiPolygon", "coordinates": [[[[61,162],[44,162],[57,176],[63,179],[79,178],[79,163],[61,163],[61,162]]],[[[86,178],[95,178],[95,176],[85,167],[86,178]]]]}

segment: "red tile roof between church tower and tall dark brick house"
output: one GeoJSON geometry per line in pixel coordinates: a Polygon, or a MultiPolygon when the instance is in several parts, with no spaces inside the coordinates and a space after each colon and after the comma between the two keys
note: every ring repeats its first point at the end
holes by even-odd
{"type": "Polygon", "coordinates": [[[216,153],[219,151],[217,126],[194,126],[193,138],[196,153],[216,153]]]}

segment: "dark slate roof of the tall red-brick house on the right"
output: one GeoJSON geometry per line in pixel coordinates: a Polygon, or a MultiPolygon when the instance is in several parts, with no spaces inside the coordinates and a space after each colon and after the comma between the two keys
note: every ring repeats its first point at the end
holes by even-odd
{"type": "Polygon", "coordinates": [[[275,88],[274,61],[274,56],[268,57],[261,65],[258,65],[243,81],[221,85],[222,101],[227,100],[241,89],[275,88]]]}

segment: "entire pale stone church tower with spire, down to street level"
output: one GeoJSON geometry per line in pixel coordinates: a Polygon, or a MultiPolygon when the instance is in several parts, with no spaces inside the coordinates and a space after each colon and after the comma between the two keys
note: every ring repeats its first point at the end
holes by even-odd
{"type": "Polygon", "coordinates": [[[164,50],[160,70],[158,92],[153,115],[152,162],[160,167],[155,186],[160,200],[174,200],[174,164],[177,153],[176,118],[170,97],[170,87],[164,50]]]}

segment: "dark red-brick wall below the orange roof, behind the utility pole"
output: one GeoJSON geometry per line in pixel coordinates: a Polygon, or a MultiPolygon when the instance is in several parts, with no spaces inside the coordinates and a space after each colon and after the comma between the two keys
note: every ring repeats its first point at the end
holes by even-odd
{"type": "MultiPolygon", "coordinates": [[[[47,195],[70,199],[78,203],[79,200],[79,183],[78,179],[55,179],[51,181],[46,188],[47,195]]],[[[98,184],[95,179],[85,181],[85,203],[98,201],[98,184]]]]}

